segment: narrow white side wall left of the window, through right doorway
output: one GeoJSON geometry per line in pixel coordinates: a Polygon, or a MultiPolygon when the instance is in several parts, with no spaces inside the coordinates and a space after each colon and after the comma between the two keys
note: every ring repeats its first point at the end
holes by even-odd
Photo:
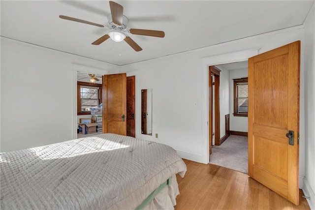
{"type": "Polygon", "coordinates": [[[220,138],[222,138],[225,135],[225,115],[229,114],[230,98],[228,70],[220,70],[220,138]]]}

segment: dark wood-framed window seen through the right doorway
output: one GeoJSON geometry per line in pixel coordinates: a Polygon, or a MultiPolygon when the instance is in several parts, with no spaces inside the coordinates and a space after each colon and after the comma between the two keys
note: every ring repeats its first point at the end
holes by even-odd
{"type": "Polygon", "coordinates": [[[234,116],[248,117],[248,78],[234,81],[234,116]]]}

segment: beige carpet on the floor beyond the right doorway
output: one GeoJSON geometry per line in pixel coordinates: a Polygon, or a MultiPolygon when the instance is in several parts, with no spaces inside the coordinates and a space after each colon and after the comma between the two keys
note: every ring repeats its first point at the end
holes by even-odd
{"type": "Polygon", "coordinates": [[[210,163],[247,174],[247,136],[230,135],[220,146],[212,146],[210,163]]]}

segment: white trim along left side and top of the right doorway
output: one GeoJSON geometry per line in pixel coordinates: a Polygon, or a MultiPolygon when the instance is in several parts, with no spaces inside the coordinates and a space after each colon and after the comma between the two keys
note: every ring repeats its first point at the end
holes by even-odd
{"type": "Polygon", "coordinates": [[[249,49],[245,51],[222,54],[202,59],[202,163],[209,163],[209,101],[208,101],[208,70],[211,65],[218,65],[231,62],[239,62],[248,60],[249,58],[258,55],[259,49],[249,49]]]}

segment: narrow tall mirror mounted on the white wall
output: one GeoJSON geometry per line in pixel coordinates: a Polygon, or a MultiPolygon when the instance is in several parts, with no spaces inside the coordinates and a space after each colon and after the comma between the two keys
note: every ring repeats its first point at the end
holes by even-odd
{"type": "Polygon", "coordinates": [[[141,134],[152,136],[152,89],[141,90],[141,134]]]}

